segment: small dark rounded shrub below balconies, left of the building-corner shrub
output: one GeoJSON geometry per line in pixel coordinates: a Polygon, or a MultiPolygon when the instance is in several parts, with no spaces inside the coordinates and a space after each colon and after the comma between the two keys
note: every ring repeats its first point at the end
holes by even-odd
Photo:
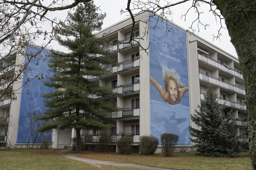
{"type": "Polygon", "coordinates": [[[130,154],[132,151],[132,141],[128,137],[121,137],[117,140],[117,148],[120,153],[130,154]]]}

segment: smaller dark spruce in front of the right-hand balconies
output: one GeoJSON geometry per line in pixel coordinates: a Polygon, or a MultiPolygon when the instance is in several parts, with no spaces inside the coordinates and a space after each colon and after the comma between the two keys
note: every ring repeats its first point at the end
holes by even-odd
{"type": "Polygon", "coordinates": [[[218,104],[217,94],[211,87],[207,88],[204,100],[196,114],[191,114],[191,120],[198,129],[189,127],[200,155],[213,157],[239,156],[239,137],[236,136],[236,127],[231,111],[223,114],[224,105],[218,104]]]}

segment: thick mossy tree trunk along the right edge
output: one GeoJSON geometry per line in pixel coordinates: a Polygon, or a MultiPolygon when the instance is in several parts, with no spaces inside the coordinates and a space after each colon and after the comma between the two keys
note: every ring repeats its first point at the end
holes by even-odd
{"type": "Polygon", "coordinates": [[[256,170],[256,1],[214,0],[214,3],[225,18],[243,71],[249,111],[249,154],[256,170]]]}

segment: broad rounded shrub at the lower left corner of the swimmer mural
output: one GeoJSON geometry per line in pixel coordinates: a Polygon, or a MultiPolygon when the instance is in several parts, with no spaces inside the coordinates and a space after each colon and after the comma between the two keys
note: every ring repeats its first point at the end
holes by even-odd
{"type": "Polygon", "coordinates": [[[141,136],[139,143],[141,154],[153,155],[156,152],[158,143],[158,140],[154,136],[141,136]]]}

